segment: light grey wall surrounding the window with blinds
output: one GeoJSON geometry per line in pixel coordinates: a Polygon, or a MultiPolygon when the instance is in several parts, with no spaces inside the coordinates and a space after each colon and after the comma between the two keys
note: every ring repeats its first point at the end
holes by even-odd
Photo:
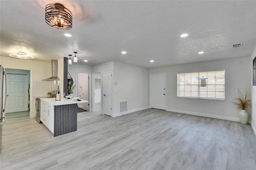
{"type": "MultiPolygon", "coordinates": [[[[250,63],[250,57],[241,57],[152,68],[149,72],[150,74],[166,73],[167,111],[240,121],[239,111],[232,102],[238,97],[238,88],[245,91],[245,88],[250,86],[251,68],[248,67],[250,63]],[[225,101],[177,98],[177,73],[221,69],[225,69],[225,101]]],[[[250,114],[250,110],[248,113],[250,114]]]]}

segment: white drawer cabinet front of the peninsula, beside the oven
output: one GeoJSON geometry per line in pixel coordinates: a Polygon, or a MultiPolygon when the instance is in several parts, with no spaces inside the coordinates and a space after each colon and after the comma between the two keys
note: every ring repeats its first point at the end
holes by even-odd
{"type": "Polygon", "coordinates": [[[54,105],[41,101],[40,120],[52,133],[54,133],[54,105]]]}

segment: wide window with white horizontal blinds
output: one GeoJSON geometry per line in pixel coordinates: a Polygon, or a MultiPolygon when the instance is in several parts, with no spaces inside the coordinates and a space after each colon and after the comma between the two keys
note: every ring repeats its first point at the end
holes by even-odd
{"type": "Polygon", "coordinates": [[[225,71],[178,73],[177,97],[195,99],[225,99],[225,71]]]}

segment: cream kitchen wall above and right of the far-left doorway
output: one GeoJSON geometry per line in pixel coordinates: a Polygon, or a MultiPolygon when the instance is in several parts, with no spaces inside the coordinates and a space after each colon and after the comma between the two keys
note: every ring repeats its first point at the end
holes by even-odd
{"type": "Polygon", "coordinates": [[[16,59],[11,57],[1,57],[1,65],[9,69],[30,70],[30,118],[36,117],[35,99],[33,95],[32,82],[41,81],[51,77],[51,63],[33,61],[30,59],[16,59]],[[31,102],[32,101],[32,102],[31,102]]]}

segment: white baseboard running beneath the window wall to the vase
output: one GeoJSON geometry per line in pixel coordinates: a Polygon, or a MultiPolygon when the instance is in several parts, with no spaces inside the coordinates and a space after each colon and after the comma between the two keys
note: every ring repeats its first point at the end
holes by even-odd
{"type": "Polygon", "coordinates": [[[227,120],[227,121],[240,122],[240,118],[237,118],[237,117],[211,115],[211,114],[207,114],[207,113],[198,113],[198,112],[182,111],[182,110],[167,109],[167,108],[166,108],[166,111],[176,112],[176,113],[184,113],[184,114],[188,114],[188,115],[195,115],[195,116],[202,116],[202,117],[210,117],[210,118],[222,119],[222,120],[227,120]]]}

